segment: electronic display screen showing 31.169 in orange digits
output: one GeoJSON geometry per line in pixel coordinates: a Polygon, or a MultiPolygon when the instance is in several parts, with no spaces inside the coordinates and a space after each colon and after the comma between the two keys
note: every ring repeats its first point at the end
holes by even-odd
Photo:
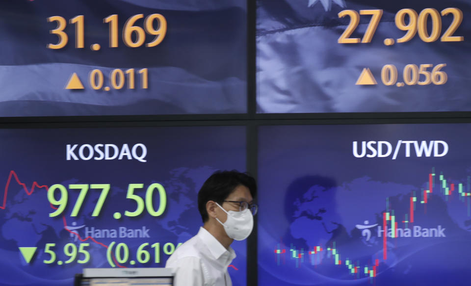
{"type": "Polygon", "coordinates": [[[0,116],[245,113],[245,0],[0,3],[0,116]]]}

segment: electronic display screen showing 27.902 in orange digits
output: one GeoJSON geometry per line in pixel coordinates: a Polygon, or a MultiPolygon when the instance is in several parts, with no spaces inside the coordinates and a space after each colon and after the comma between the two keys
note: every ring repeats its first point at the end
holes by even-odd
{"type": "Polygon", "coordinates": [[[470,19],[470,0],[257,0],[257,111],[470,111],[470,19]]]}

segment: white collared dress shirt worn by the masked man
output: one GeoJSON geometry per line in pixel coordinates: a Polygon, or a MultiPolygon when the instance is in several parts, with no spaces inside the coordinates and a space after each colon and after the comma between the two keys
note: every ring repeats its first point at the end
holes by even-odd
{"type": "Polygon", "coordinates": [[[180,245],[165,264],[175,272],[174,286],[232,286],[227,266],[235,259],[212,234],[200,227],[198,234],[180,245]]]}

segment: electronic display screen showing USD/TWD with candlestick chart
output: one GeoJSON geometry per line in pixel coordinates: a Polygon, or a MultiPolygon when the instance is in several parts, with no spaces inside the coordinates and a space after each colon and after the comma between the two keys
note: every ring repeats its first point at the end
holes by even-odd
{"type": "Polygon", "coordinates": [[[258,285],[469,285],[470,128],[261,127],[258,285]]]}

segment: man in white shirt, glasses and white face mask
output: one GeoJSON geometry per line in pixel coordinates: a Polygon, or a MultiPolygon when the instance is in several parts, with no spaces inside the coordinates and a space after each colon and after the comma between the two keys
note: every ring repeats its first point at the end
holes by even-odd
{"type": "Polygon", "coordinates": [[[235,252],[230,245],[252,232],[256,192],[255,179],[237,171],[218,171],[206,180],[198,192],[203,227],[165,265],[175,271],[175,286],[232,286],[227,266],[235,252]]]}

